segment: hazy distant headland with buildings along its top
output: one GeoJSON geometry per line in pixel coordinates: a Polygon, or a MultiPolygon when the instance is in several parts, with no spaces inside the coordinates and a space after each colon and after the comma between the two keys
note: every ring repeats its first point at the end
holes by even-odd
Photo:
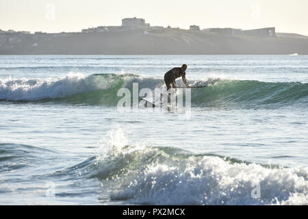
{"type": "Polygon", "coordinates": [[[274,27],[201,31],[196,25],[186,30],[126,19],[123,26],[76,33],[0,31],[0,55],[308,55],[307,36],[275,33],[274,27]]]}

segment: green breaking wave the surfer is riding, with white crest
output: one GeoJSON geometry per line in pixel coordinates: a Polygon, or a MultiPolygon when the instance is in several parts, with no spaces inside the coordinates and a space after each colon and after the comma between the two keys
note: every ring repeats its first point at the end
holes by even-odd
{"type": "MultiPolygon", "coordinates": [[[[69,73],[66,77],[49,79],[0,79],[2,101],[60,101],[77,104],[116,105],[120,88],[132,90],[138,82],[139,89],[165,88],[164,80],[132,74],[69,73]]],[[[189,81],[193,107],[239,105],[281,107],[308,103],[308,83],[272,83],[264,81],[208,78],[189,81]]],[[[181,83],[181,80],[177,82],[181,83]]]]}

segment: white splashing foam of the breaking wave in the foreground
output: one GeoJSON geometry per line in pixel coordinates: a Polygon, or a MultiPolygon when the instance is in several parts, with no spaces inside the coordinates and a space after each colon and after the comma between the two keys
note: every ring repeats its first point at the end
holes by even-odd
{"type": "Polygon", "coordinates": [[[175,148],[128,146],[122,131],[113,135],[109,151],[97,162],[98,175],[108,172],[113,182],[112,200],[154,205],[308,205],[307,169],[232,162],[175,148]]]}

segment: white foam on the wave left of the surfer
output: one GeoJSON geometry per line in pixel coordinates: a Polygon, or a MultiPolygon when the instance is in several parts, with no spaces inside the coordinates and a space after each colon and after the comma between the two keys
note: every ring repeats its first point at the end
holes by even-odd
{"type": "Polygon", "coordinates": [[[68,73],[65,77],[47,79],[0,79],[0,100],[7,101],[38,101],[42,99],[57,99],[72,94],[105,90],[123,79],[124,86],[132,87],[139,83],[140,88],[155,88],[161,81],[154,77],[142,77],[129,74],[84,75],[68,73]]]}

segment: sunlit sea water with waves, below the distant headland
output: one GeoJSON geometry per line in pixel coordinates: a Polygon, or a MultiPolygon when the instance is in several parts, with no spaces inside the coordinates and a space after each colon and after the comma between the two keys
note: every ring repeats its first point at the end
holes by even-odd
{"type": "Polygon", "coordinates": [[[1,55],[0,204],[307,205],[307,109],[306,55],[1,55]],[[189,116],[118,110],[183,63],[189,116]]]}

